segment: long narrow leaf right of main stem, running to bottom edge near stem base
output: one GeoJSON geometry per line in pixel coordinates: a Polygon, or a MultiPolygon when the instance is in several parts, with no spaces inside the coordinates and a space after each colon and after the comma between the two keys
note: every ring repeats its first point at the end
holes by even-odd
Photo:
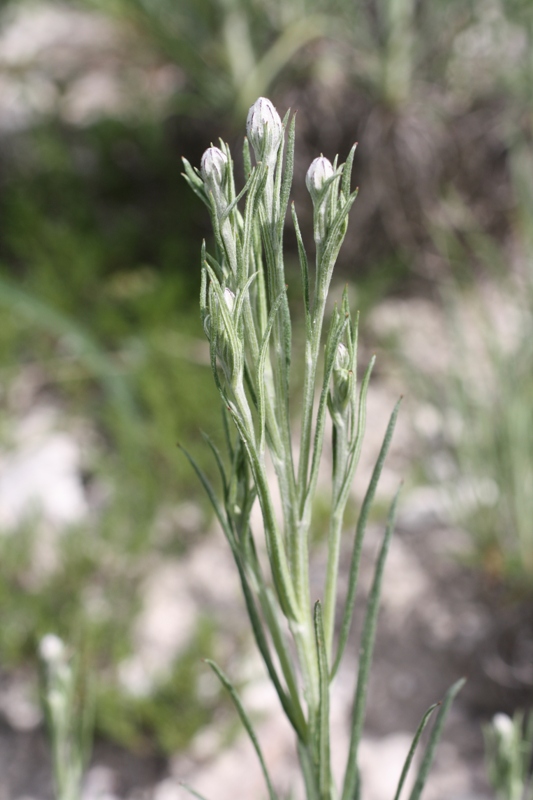
{"type": "Polygon", "coordinates": [[[387,559],[389,544],[394,528],[396,505],[398,503],[400,489],[398,489],[396,492],[391,503],[387,525],[385,528],[385,535],[383,537],[383,542],[374,571],[374,580],[372,581],[372,587],[367,600],[365,621],[363,625],[363,632],[361,634],[361,645],[359,648],[359,669],[352,711],[352,732],[350,737],[350,749],[344,778],[342,800],[352,800],[357,789],[357,750],[359,748],[359,742],[361,740],[365,718],[366,694],[368,688],[368,679],[370,676],[370,667],[372,665],[372,657],[374,655],[374,643],[376,639],[376,627],[379,613],[379,599],[381,594],[383,571],[385,569],[385,561],[387,559]]]}

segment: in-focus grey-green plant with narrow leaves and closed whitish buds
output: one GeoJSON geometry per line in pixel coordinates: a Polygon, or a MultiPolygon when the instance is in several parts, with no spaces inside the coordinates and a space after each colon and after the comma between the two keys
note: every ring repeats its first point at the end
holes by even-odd
{"type": "MultiPolygon", "coordinates": [[[[237,192],[228,146],[210,147],[200,169],[184,159],[185,177],[210,210],[215,254],[202,246],[201,315],[209,340],[213,377],[222,398],[226,459],[207,438],[222,482],[219,499],[189,456],[226,535],[239,573],[255,641],[298,745],[308,800],[359,796],[357,750],[365,716],[366,689],[375,638],[378,600],[393,528],[394,499],[366,608],[354,693],[349,756],[340,793],[330,767],[329,692],[343,657],[354,605],[363,537],[370,506],[392,438],[394,408],[353,539],[349,586],[335,636],[340,537],[361,452],[366,398],[374,359],[357,380],[357,317],[345,290],[325,324],[333,268],[357,192],[350,189],[355,147],[345,164],[316,158],[306,177],[314,209],[315,266],[310,270],[294,205],[292,219],[301,267],[305,359],[299,442],[291,435],[291,315],[283,259],[285,217],[292,184],[294,117],[282,121],[259,98],[247,119],[246,182],[237,192]],[[255,165],[252,164],[253,150],[255,165]],[[324,328],[326,327],[325,335],[324,328]],[[324,346],[325,339],[325,346],[324,346]],[[318,402],[315,396],[318,390],[318,402]],[[323,601],[311,604],[309,534],[326,418],[333,430],[331,509],[323,601]],[[281,512],[269,485],[267,453],[274,466],[281,512]],[[298,453],[298,458],[296,457],[298,453]],[[258,556],[251,511],[258,501],[268,555],[268,574],[258,556]],[[287,623],[287,624],[285,624],[287,623]],[[295,655],[293,655],[295,653],[295,655]]],[[[270,799],[276,795],[252,723],[229,678],[211,667],[231,693],[256,749],[270,799]]],[[[411,800],[420,795],[456,684],[443,702],[411,800]]],[[[430,709],[407,757],[398,794],[430,709]]],[[[398,796],[398,795],[397,795],[398,796]]]]}

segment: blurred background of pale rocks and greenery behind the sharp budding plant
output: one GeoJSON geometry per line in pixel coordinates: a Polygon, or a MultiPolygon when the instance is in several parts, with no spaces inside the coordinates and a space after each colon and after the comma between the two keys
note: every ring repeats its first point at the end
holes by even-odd
{"type": "MultiPolygon", "coordinates": [[[[310,161],[359,142],[337,281],[379,358],[354,509],[406,396],[375,513],[405,479],[369,752],[466,671],[428,797],[490,796],[479,724],[533,686],[532,39],[530,0],[0,2],[0,797],[50,796],[50,631],[92,676],[87,797],[171,800],[212,764],[226,796],[239,730],[203,657],[270,730],[177,447],[212,471],[201,430],[220,428],[198,313],[208,219],[181,156],[222,137],[238,163],[260,95],[297,112],[307,242],[310,161]]],[[[290,230],[287,259],[298,325],[290,230]]],[[[318,563],[320,545],[317,530],[318,563]]]]}

